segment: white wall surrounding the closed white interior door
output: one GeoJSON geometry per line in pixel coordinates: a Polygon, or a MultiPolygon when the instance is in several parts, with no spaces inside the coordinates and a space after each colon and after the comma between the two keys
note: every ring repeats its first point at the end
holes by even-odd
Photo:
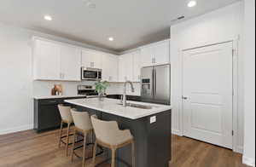
{"type": "MultiPolygon", "coordinates": [[[[183,49],[192,49],[213,43],[237,40],[242,35],[243,3],[234,3],[223,9],[185,20],[171,26],[172,64],[172,132],[182,135],[182,55],[183,49]]],[[[241,36],[242,37],[242,36],[241,36]]],[[[238,135],[235,150],[242,152],[243,136],[243,63],[241,40],[238,42],[238,135]]],[[[235,120],[236,121],[236,120],[235,120]]]]}

